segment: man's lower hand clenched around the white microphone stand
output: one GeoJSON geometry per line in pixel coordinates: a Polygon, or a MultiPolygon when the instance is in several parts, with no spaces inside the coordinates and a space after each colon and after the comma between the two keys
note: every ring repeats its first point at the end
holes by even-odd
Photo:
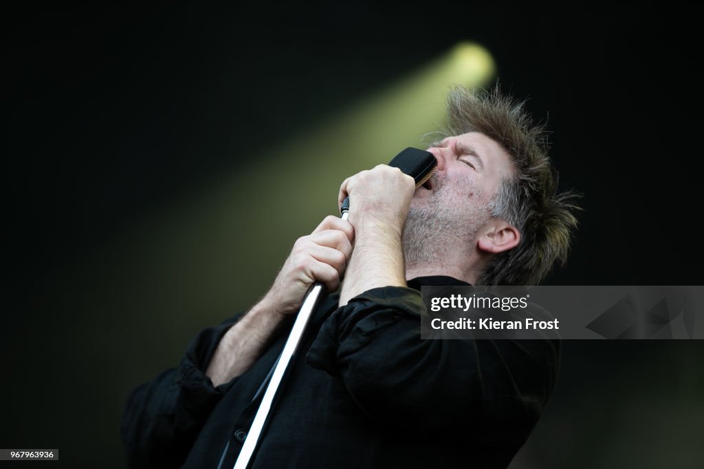
{"type": "Polygon", "coordinates": [[[270,309],[279,314],[298,311],[308,288],[316,281],[334,292],[340,285],[352,255],[354,229],[343,219],[332,215],[308,236],[296,240],[284,266],[263,298],[270,309]]]}

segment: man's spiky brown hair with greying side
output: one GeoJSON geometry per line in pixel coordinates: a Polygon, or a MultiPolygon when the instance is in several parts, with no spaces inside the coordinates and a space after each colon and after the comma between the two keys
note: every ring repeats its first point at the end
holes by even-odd
{"type": "Polygon", "coordinates": [[[491,201],[491,216],[521,233],[520,243],[491,260],[479,285],[537,285],[555,262],[564,262],[577,228],[577,195],[558,193],[558,175],[548,158],[543,125],[534,124],[524,103],[491,91],[451,89],[448,127],[443,136],[481,132],[500,143],[513,159],[513,177],[502,181],[491,201]]]}

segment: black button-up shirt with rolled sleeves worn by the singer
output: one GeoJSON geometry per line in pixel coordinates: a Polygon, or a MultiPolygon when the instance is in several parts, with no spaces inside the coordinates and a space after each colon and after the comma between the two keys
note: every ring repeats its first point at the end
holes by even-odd
{"type": "MultiPolygon", "coordinates": [[[[505,468],[534,427],[558,374],[554,340],[421,340],[420,285],[322,300],[279,389],[251,468],[505,468]]],[[[178,368],[127,399],[122,441],[132,468],[223,468],[244,442],[252,401],[290,325],[253,366],[213,387],[204,374],[237,318],[203,330],[178,368]]],[[[292,323],[292,321],[291,321],[292,323]]],[[[263,393],[260,393],[263,394],[263,393]]]]}

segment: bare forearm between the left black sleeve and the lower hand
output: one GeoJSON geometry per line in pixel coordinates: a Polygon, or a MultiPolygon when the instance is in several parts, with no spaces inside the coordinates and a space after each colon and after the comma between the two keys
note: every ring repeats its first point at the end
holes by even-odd
{"type": "Polygon", "coordinates": [[[263,353],[283,317],[265,297],[237,321],[222,336],[208,364],[206,375],[213,385],[227,383],[249,370],[263,353]]]}

